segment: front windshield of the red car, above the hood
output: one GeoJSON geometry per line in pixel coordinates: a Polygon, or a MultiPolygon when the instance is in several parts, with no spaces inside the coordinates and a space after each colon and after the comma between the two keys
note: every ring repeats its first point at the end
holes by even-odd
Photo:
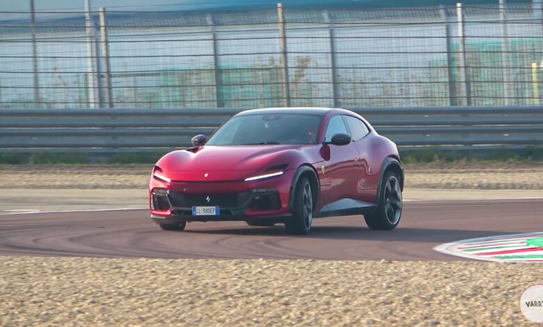
{"type": "Polygon", "coordinates": [[[322,116],[298,113],[239,115],[225,122],[206,145],[315,144],[322,116]]]}

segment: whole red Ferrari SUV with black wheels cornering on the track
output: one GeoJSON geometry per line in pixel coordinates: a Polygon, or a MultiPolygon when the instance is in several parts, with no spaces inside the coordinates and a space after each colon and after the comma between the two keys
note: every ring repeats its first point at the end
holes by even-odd
{"type": "Polygon", "coordinates": [[[163,230],[191,221],[284,223],[308,234],[313,218],[363,214],[392,230],[402,214],[404,172],[395,143],[343,109],[243,111],[210,138],[157,162],[151,218],[163,230]]]}

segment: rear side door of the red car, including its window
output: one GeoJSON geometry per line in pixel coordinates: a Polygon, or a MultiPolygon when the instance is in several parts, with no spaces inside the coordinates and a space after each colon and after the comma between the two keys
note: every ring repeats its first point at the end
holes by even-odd
{"type": "Polygon", "coordinates": [[[345,122],[347,122],[349,135],[359,153],[358,160],[356,161],[356,173],[352,175],[354,178],[356,176],[356,193],[353,198],[363,202],[372,202],[375,198],[375,178],[372,178],[372,172],[368,162],[370,138],[366,137],[370,131],[359,118],[352,115],[344,115],[343,118],[345,119],[345,122]]]}

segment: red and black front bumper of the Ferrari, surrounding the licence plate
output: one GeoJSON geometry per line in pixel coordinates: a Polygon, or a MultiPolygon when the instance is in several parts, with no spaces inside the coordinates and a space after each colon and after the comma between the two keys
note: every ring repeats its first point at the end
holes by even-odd
{"type": "Polygon", "coordinates": [[[153,221],[247,221],[290,216],[294,172],[253,182],[164,182],[151,177],[149,202],[153,221]],[[193,206],[218,206],[217,216],[193,216],[193,206]]]}

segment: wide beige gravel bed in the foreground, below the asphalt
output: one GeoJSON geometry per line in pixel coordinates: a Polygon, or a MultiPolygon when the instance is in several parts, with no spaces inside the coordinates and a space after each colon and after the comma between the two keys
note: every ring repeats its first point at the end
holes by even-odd
{"type": "Polygon", "coordinates": [[[0,257],[1,326],[528,326],[529,264],[0,257]]]}

